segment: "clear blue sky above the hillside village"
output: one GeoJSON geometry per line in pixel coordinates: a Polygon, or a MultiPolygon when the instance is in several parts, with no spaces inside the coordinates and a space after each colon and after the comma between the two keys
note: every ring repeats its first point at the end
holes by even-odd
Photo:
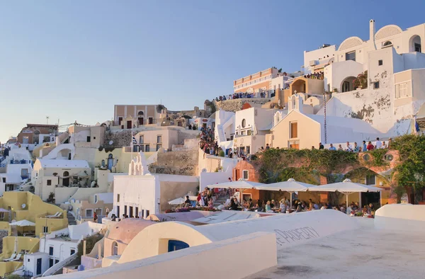
{"type": "Polygon", "coordinates": [[[339,45],[368,22],[425,23],[425,1],[3,1],[0,141],[26,123],[87,125],[114,104],[203,107],[268,67],[339,45]],[[405,4],[405,5],[404,5],[405,4]]]}

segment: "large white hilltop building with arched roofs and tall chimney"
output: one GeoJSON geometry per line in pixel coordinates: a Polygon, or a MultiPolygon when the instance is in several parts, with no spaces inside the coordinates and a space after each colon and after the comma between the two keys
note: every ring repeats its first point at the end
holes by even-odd
{"type": "Polygon", "coordinates": [[[373,20],[369,40],[344,40],[324,68],[325,88],[340,92],[327,103],[327,115],[360,118],[387,137],[414,132],[414,115],[425,103],[424,40],[425,24],[407,30],[387,25],[375,33],[373,20]],[[354,89],[365,71],[367,88],[354,89]]]}

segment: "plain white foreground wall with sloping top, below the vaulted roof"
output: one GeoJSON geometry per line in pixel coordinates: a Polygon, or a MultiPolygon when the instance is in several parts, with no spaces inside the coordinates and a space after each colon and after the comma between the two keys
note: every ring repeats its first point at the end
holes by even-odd
{"type": "Polygon", "coordinates": [[[234,239],[194,246],[107,268],[52,276],[52,278],[245,278],[277,265],[276,237],[257,232],[234,239]],[[263,251],[256,254],[256,251],[263,251]],[[264,252],[266,251],[266,252],[264,252]]]}

